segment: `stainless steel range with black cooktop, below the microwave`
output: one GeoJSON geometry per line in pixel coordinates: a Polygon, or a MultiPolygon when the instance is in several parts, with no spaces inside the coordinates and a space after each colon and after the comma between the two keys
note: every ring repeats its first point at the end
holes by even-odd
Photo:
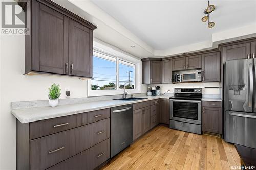
{"type": "Polygon", "coordinates": [[[175,88],[170,98],[170,128],[202,134],[202,88],[175,88]]]}

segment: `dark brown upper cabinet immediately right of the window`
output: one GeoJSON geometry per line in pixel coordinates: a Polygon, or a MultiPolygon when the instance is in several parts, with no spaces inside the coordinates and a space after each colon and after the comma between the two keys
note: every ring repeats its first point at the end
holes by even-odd
{"type": "Polygon", "coordinates": [[[142,61],[142,84],[162,83],[162,59],[145,58],[142,61]]]}

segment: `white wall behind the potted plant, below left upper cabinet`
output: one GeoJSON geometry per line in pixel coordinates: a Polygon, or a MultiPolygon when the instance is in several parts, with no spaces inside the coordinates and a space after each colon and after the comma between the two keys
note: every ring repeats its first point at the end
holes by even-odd
{"type": "Polygon", "coordinates": [[[24,73],[24,36],[1,37],[1,119],[0,169],[16,168],[16,118],[11,114],[14,101],[47,100],[52,83],[62,89],[70,87],[71,98],[87,97],[87,80],[72,77],[34,75],[24,73]]]}

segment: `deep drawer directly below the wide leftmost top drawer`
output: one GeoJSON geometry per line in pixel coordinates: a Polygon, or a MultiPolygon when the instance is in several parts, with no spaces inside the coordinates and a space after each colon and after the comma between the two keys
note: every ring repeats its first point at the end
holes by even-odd
{"type": "Polygon", "coordinates": [[[47,169],[75,154],[75,129],[59,132],[40,139],[40,168],[47,169]]]}

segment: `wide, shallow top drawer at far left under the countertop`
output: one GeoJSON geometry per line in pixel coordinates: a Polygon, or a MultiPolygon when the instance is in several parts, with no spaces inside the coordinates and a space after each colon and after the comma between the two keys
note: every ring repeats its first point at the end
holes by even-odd
{"type": "Polygon", "coordinates": [[[72,129],[82,124],[82,114],[57,117],[30,123],[30,139],[72,129]]]}

